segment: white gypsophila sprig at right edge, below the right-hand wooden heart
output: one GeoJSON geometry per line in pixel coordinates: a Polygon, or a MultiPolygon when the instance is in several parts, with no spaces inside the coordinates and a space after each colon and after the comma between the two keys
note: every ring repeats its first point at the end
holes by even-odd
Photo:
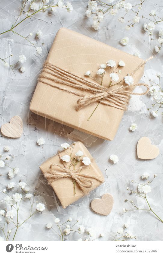
{"type": "Polygon", "coordinates": [[[133,208],[131,208],[130,210],[124,208],[123,212],[129,212],[129,211],[134,211],[134,210],[145,210],[147,212],[152,212],[158,220],[160,220],[161,222],[163,222],[163,220],[153,211],[152,207],[149,204],[148,201],[148,193],[150,193],[152,191],[152,188],[150,186],[150,184],[152,183],[152,181],[155,179],[155,177],[157,177],[157,174],[153,174],[152,179],[149,179],[149,173],[145,172],[141,175],[141,179],[145,180],[146,182],[143,184],[140,184],[138,182],[135,182],[134,180],[132,180],[132,183],[137,184],[137,189],[133,190],[131,188],[127,188],[128,191],[130,191],[131,194],[135,194],[137,196],[139,196],[140,198],[143,198],[146,201],[146,208],[139,208],[133,200],[128,200],[125,199],[125,202],[129,202],[133,208]]]}

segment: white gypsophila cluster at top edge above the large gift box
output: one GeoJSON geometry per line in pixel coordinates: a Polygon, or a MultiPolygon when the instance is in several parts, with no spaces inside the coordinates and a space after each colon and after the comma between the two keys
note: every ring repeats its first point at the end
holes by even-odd
{"type": "Polygon", "coordinates": [[[139,23],[140,11],[144,2],[145,0],[139,0],[137,1],[137,4],[132,5],[129,2],[125,2],[125,0],[89,0],[86,16],[93,20],[92,27],[94,28],[94,30],[98,30],[100,23],[105,19],[108,14],[114,16],[118,14],[118,12],[124,12],[123,16],[118,17],[118,21],[122,23],[128,22],[129,24],[125,28],[126,30],[129,30],[131,27],[134,27],[135,24],[139,23]],[[131,20],[126,19],[125,21],[125,17],[130,16],[128,15],[130,11],[134,13],[134,17],[131,20]]]}

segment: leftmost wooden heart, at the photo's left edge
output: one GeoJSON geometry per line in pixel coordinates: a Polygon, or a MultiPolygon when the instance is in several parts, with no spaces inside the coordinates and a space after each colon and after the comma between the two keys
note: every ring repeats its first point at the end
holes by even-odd
{"type": "Polygon", "coordinates": [[[9,124],[2,125],[1,132],[9,138],[20,138],[23,133],[23,121],[20,116],[13,116],[9,124]]]}

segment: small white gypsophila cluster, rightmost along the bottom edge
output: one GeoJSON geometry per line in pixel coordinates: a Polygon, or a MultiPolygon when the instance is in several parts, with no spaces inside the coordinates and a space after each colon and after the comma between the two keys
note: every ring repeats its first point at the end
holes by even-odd
{"type": "Polygon", "coordinates": [[[123,228],[119,228],[117,233],[113,239],[113,241],[120,242],[120,241],[128,241],[129,239],[136,239],[135,235],[132,235],[130,231],[128,231],[129,224],[124,224],[123,228]]]}

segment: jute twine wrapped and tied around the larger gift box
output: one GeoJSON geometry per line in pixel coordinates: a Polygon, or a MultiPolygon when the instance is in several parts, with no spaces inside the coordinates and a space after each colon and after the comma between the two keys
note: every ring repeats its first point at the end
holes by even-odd
{"type": "MultiPolygon", "coordinates": [[[[133,76],[139,68],[141,68],[147,61],[152,59],[153,56],[142,62],[135,70],[132,72],[133,76]]],[[[80,98],[77,100],[76,110],[89,106],[91,103],[99,102],[107,106],[115,107],[117,109],[126,110],[129,104],[130,96],[132,95],[145,95],[149,91],[149,86],[147,84],[134,84],[128,85],[124,84],[112,89],[103,87],[99,84],[88,81],[85,78],[79,77],[71,72],[68,72],[62,68],[52,65],[49,62],[45,62],[42,73],[40,74],[38,81],[49,86],[53,86],[59,90],[66,91],[68,93],[73,93],[80,98]],[[52,77],[49,77],[48,75],[52,77]],[[49,82],[54,82],[59,84],[50,84],[49,82]],[[66,85],[63,88],[61,85],[66,85]],[[144,93],[133,93],[135,86],[145,86],[146,91],[144,93]],[[73,88],[78,89],[74,91],[73,88]],[[84,92],[88,92],[89,95],[85,95],[84,92]],[[90,95],[91,94],[91,95],[90,95]]]]}

